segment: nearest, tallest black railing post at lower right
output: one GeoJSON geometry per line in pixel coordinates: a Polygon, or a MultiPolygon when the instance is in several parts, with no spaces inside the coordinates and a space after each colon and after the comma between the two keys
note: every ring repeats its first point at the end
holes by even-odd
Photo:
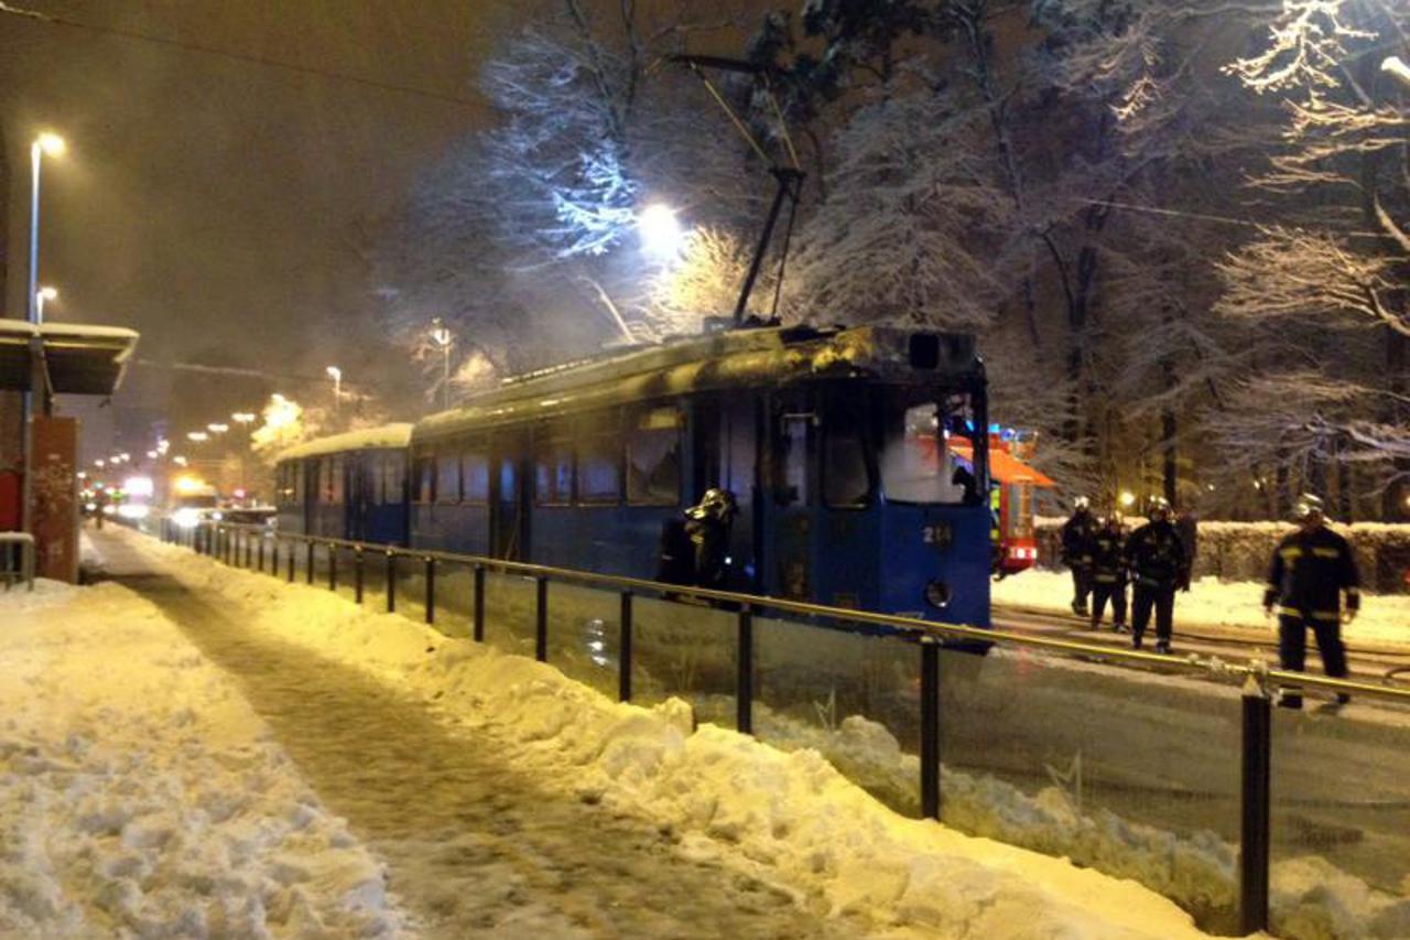
{"type": "Polygon", "coordinates": [[[1268,930],[1268,862],[1272,841],[1273,709],[1255,676],[1244,683],[1242,827],[1238,852],[1239,933],[1268,930]]]}

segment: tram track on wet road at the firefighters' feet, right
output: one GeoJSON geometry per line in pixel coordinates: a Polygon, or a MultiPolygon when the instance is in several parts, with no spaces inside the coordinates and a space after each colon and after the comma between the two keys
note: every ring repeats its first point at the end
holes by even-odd
{"type": "MultiPolygon", "coordinates": [[[[1110,624],[1097,631],[1089,627],[1086,617],[1063,614],[1035,607],[995,604],[993,608],[995,628],[1018,634],[1080,639],[1086,644],[1125,649],[1131,645],[1131,634],[1115,632],[1110,624]]],[[[1148,641],[1153,644],[1153,629],[1148,641]]],[[[1311,646],[1316,644],[1310,642],[1311,646]]],[[[1175,625],[1173,658],[1189,653],[1218,656],[1228,662],[1261,661],[1277,666],[1277,635],[1269,628],[1266,635],[1255,635],[1251,629],[1193,627],[1182,628],[1179,617],[1175,625]]],[[[1316,656],[1308,651],[1308,658],[1316,656]]],[[[1410,649],[1380,644],[1348,644],[1347,665],[1352,679],[1369,680],[1392,687],[1410,687],[1410,649]]],[[[1313,666],[1316,669],[1316,666],[1313,666]]]]}

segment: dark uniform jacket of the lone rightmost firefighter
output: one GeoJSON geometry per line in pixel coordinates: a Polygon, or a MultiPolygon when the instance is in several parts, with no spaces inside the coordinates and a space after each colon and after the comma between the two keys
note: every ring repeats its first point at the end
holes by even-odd
{"type": "Polygon", "coordinates": [[[1325,525],[1311,532],[1293,532],[1273,550],[1263,604],[1277,604],[1280,613],[1308,620],[1341,618],[1341,591],[1347,607],[1361,605],[1356,558],[1351,545],[1325,525]]]}

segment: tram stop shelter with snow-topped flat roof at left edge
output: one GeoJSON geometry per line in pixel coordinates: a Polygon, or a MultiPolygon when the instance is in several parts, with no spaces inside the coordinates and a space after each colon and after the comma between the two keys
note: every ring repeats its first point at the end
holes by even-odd
{"type": "Polygon", "coordinates": [[[79,560],[78,419],[55,416],[54,397],[111,395],[137,339],[120,326],[0,319],[0,532],[34,536],[41,577],[75,582],[79,560]]]}

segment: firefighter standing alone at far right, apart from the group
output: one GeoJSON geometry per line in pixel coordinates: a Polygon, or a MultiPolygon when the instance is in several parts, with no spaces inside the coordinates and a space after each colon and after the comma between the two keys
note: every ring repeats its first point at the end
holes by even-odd
{"type": "MultiPolygon", "coordinates": [[[[1356,559],[1347,539],[1327,528],[1323,502],[1314,495],[1301,495],[1293,508],[1297,531],[1277,543],[1268,572],[1268,591],[1263,610],[1273,613],[1277,604],[1277,656],[1283,669],[1301,672],[1307,661],[1307,631],[1317,638],[1323,669],[1334,679],[1347,676],[1347,648],[1341,642],[1341,621],[1349,624],[1361,608],[1361,582],[1356,559]],[[1341,594],[1347,593],[1347,611],[1341,610],[1341,594]]],[[[1337,693],[1337,704],[1349,697],[1337,693]]],[[[1296,689],[1287,690],[1279,701],[1287,709],[1303,707],[1296,689]]]]}

